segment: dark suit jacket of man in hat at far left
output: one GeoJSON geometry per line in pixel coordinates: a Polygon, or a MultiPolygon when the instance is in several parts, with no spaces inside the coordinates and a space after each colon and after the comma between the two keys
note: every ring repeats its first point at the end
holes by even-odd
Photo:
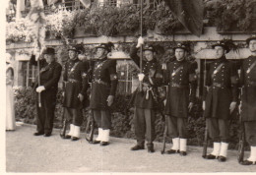
{"type": "MultiPolygon", "coordinates": [[[[35,56],[32,55],[30,60],[31,64],[37,66],[35,56]]],[[[58,89],[58,82],[61,76],[62,67],[59,63],[53,61],[48,64],[44,59],[39,61],[40,70],[40,86],[45,87],[45,91],[56,91],[58,89]]],[[[37,79],[36,79],[37,81],[37,79]]],[[[38,87],[38,82],[35,83],[35,87],[38,87]]]]}

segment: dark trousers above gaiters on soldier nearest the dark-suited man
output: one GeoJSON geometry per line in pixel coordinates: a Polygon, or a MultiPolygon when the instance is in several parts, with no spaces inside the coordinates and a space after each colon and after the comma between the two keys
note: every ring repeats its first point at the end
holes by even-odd
{"type": "Polygon", "coordinates": [[[72,123],[75,126],[81,126],[83,124],[83,111],[79,108],[64,108],[64,116],[68,123],[72,123]]]}

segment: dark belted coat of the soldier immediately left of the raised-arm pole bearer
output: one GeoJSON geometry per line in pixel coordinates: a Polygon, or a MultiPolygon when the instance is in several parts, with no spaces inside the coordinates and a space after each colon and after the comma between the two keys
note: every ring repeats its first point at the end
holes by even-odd
{"type": "Polygon", "coordinates": [[[108,60],[106,57],[97,60],[93,66],[90,107],[108,109],[106,99],[108,95],[115,95],[117,83],[116,60],[108,60]]]}

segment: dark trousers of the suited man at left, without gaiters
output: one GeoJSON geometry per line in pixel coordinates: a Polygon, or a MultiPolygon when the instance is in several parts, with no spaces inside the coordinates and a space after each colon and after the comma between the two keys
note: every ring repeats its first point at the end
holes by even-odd
{"type": "Polygon", "coordinates": [[[40,102],[41,107],[38,106],[38,93],[36,92],[36,130],[38,133],[51,134],[56,105],[56,92],[42,91],[40,93],[40,102]]]}

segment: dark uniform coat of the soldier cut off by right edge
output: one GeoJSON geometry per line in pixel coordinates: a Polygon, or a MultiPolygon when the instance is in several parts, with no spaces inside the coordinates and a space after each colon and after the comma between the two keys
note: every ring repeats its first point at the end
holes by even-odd
{"type": "Polygon", "coordinates": [[[256,120],[256,56],[243,60],[241,65],[240,85],[242,87],[242,120],[256,120]],[[253,66],[253,68],[252,68],[253,66]]]}

